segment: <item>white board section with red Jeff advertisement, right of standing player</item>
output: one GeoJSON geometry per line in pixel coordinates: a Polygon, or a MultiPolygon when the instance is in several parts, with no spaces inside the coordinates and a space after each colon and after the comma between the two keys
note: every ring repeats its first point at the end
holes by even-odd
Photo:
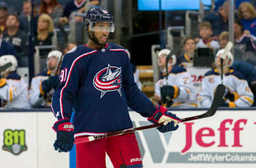
{"type": "MultiPolygon", "coordinates": [[[[181,118],[202,113],[204,111],[176,112],[181,118]]],[[[131,118],[135,127],[150,124],[137,113],[132,113],[131,118]]],[[[245,168],[256,166],[255,129],[254,111],[217,111],[206,119],[180,123],[177,131],[139,131],[137,139],[147,168],[178,165],[180,168],[245,168]]]]}

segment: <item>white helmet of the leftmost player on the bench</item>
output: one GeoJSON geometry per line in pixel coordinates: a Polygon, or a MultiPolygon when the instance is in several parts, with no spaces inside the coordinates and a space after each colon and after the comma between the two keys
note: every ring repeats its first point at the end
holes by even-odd
{"type": "Polygon", "coordinates": [[[12,65],[6,68],[4,71],[1,72],[1,75],[3,75],[6,72],[12,72],[16,71],[18,66],[18,61],[14,55],[2,55],[0,56],[0,67],[3,65],[11,63],[12,65]]]}

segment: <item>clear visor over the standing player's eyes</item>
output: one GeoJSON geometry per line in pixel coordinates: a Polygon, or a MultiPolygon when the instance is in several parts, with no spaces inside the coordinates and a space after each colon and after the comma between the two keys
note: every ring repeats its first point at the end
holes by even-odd
{"type": "Polygon", "coordinates": [[[101,22],[101,23],[95,24],[93,22],[90,22],[89,24],[90,30],[95,32],[99,32],[99,31],[114,32],[115,31],[115,23],[110,23],[110,22],[101,22]],[[104,23],[109,23],[109,24],[104,24],[104,23]]]}

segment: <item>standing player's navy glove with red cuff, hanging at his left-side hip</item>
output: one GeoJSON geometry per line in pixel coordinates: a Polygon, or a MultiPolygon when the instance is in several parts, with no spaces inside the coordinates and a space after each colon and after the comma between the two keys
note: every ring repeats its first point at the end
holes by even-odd
{"type": "Polygon", "coordinates": [[[53,144],[55,150],[69,152],[74,144],[74,125],[68,119],[62,119],[55,122],[52,128],[57,132],[57,140],[53,144]]]}

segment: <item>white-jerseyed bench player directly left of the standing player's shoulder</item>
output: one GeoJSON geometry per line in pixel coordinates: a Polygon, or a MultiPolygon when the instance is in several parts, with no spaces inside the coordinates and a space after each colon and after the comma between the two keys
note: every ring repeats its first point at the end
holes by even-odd
{"type": "Polygon", "coordinates": [[[33,107],[51,107],[51,98],[54,89],[59,85],[59,66],[62,53],[51,51],[47,56],[47,70],[39,73],[31,80],[29,89],[30,104],[33,107]]]}

